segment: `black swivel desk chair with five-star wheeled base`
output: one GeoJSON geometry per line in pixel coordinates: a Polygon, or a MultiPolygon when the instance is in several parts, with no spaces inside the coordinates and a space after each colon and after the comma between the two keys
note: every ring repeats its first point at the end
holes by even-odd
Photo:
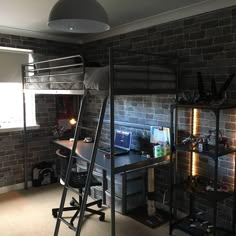
{"type": "MultiPolygon", "coordinates": [[[[65,185],[66,171],[67,171],[67,166],[69,162],[68,151],[66,150],[62,151],[58,149],[56,151],[56,154],[60,158],[60,183],[62,185],[65,185]]],[[[80,206],[82,203],[82,193],[83,193],[83,188],[85,187],[86,178],[87,178],[87,171],[77,172],[77,171],[72,170],[70,173],[69,185],[72,188],[79,190],[79,201],[77,201],[75,198],[72,198],[70,202],[71,207],[64,207],[63,211],[75,211],[74,215],[72,216],[70,220],[70,224],[72,226],[73,226],[74,220],[76,219],[76,217],[78,216],[80,212],[80,206]]],[[[90,186],[92,187],[92,186],[100,186],[100,185],[102,184],[95,177],[92,177],[90,186]]],[[[99,210],[91,209],[90,207],[94,205],[97,205],[98,207],[102,207],[102,199],[87,203],[86,211],[92,214],[99,215],[100,216],[99,220],[104,221],[105,213],[99,210]]],[[[53,208],[52,215],[54,217],[57,217],[58,211],[59,211],[59,208],[53,208]]]]}

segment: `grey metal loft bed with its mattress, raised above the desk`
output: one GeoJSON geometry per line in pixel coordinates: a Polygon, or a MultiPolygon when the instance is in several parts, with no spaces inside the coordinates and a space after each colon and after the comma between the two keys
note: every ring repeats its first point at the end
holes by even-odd
{"type": "MultiPolygon", "coordinates": [[[[109,63],[107,63],[108,66],[103,66],[103,67],[86,67],[83,58],[78,55],[23,65],[22,67],[23,92],[24,93],[32,92],[35,94],[78,94],[78,95],[83,95],[87,93],[104,94],[105,97],[109,97],[110,137],[114,137],[114,129],[115,129],[114,97],[116,95],[147,95],[147,94],[177,95],[178,85],[179,85],[178,82],[179,72],[177,69],[178,64],[173,58],[169,58],[167,56],[162,56],[162,55],[145,54],[140,52],[129,52],[116,49],[109,50],[108,58],[109,58],[109,63]],[[74,60],[73,63],[68,62],[71,59],[74,60]],[[65,64],[63,64],[62,61],[64,61],[65,64]],[[58,63],[60,65],[58,65],[58,63]]],[[[101,119],[103,118],[100,118],[98,121],[100,127],[103,122],[103,120],[101,119]]],[[[77,122],[77,126],[78,123],[79,120],[77,122]]],[[[24,134],[26,134],[25,122],[24,122],[24,134]]],[[[77,137],[77,134],[75,134],[75,137],[77,137]]],[[[76,142],[77,138],[74,139],[74,143],[76,142]]],[[[98,144],[95,142],[94,145],[95,145],[94,150],[96,150],[98,144]]],[[[24,146],[25,146],[24,149],[25,180],[27,182],[26,137],[24,138],[24,146]]],[[[74,146],[75,145],[73,144],[73,147],[74,146]]],[[[110,146],[114,147],[114,139],[110,139],[110,146]]],[[[73,154],[74,151],[72,149],[71,153],[73,154]]],[[[94,162],[92,163],[90,163],[90,168],[93,168],[94,166],[94,162]]],[[[112,236],[114,236],[115,235],[115,204],[114,204],[115,173],[114,173],[113,151],[111,151],[110,165],[111,165],[110,181],[111,181],[111,202],[112,202],[111,234],[112,236]]],[[[89,172],[91,172],[90,169],[89,172]]],[[[88,188],[89,186],[88,184],[86,184],[85,196],[86,194],[88,194],[88,188]]],[[[87,199],[85,199],[85,201],[86,200],[87,199]]],[[[83,216],[83,212],[81,214],[83,216]]],[[[81,219],[79,219],[79,224],[82,224],[81,219]]]]}

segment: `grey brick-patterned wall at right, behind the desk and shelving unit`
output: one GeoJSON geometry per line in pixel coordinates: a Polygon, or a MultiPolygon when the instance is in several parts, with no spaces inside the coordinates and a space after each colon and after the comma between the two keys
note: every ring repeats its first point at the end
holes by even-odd
{"type": "MultiPolygon", "coordinates": [[[[84,46],[86,59],[97,61],[102,65],[108,64],[108,47],[142,52],[161,53],[179,58],[181,69],[180,88],[181,90],[197,89],[197,72],[201,72],[205,86],[210,89],[211,79],[215,79],[217,88],[224,83],[229,74],[236,72],[236,7],[229,7],[214,12],[209,12],[174,22],[157,25],[147,29],[130,32],[111,38],[87,43],[84,46]]],[[[120,55],[122,59],[122,55],[120,55]]],[[[123,61],[126,58],[123,57],[123,61]]],[[[235,102],[236,78],[228,91],[228,99],[235,102]]],[[[154,95],[150,97],[122,97],[116,99],[117,112],[116,121],[125,121],[123,127],[134,131],[133,147],[138,147],[137,134],[144,129],[148,132],[149,125],[169,126],[169,105],[173,97],[166,95],[154,95]],[[137,128],[137,124],[140,127],[137,128]],[[147,126],[142,126],[146,124],[147,126]]],[[[91,101],[90,107],[96,107],[91,101]]],[[[235,110],[223,112],[221,116],[221,132],[232,140],[235,145],[235,110]]],[[[89,114],[91,115],[92,112],[89,114]]],[[[214,124],[214,115],[207,111],[201,112],[201,129],[206,133],[214,124]]],[[[189,121],[189,113],[182,112],[180,117],[181,128],[189,130],[186,122],[189,121]]],[[[105,130],[107,131],[107,127],[105,130]]],[[[106,138],[106,136],[104,135],[106,138]]],[[[179,163],[180,169],[189,168],[189,158],[183,156],[179,163]]],[[[219,180],[232,186],[234,171],[232,170],[232,156],[224,157],[219,162],[219,180]]],[[[158,183],[167,181],[168,169],[160,168],[156,171],[158,183]],[[163,176],[165,176],[163,178],[163,176]]],[[[209,176],[213,173],[213,163],[209,158],[200,158],[197,161],[197,171],[200,175],[209,176]]],[[[181,172],[181,171],[180,171],[181,172]]],[[[184,174],[184,173],[183,173],[184,174]]],[[[185,176],[187,173],[184,174],[185,176]]],[[[188,197],[180,193],[179,207],[186,211],[188,197]]],[[[200,210],[212,210],[206,207],[203,200],[197,204],[200,210]]],[[[220,222],[228,225],[231,219],[232,201],[227,200],[219,207],[220,222]],[[226,213],[227,212],[227,213],[226,213]],[[225,214],[227,217],[225,217],[225,214]]],[[[208,214],[207,213],[207,214],[208,214]]]]}

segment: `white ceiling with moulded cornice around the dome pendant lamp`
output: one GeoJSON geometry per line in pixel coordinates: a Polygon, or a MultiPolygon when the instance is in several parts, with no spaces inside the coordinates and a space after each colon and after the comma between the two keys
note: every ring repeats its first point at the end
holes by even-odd
{"type": "MultiPolygon", "coordinates": [[[[86,1],[86,0],[85,0],[86,1]]],[[[59,33],[48,28],[57,0],[0,0],[0,32],[83,43],[167,21],[236,5],[235,0],[97,0],[106,10],[111,29],[100,34],[59,33]]]]}

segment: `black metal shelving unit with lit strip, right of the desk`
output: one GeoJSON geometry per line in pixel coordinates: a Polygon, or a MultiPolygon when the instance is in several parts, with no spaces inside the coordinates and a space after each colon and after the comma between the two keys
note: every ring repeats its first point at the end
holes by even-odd
{"type": "MultiPolygon", "coordinates": [[[[170,182],[170,228],[169,234],[172,235],[172,231],[174,229],[180,229],[190,235],[193,236],[205,236],[207,234],[206,224],[201,220],[195,221],[196,212],[194,212],[194,206],[196,203],[196,199],[203,199],[206,201],[209,207],[212,208],[213,211],[213,219],[211,222],[212,229],[211,234],[213,236],[221,236],[221,235],[235,235],[235,217],[236,217],[236,171],[234,171],[234,187],[230,192],[219,192],[218,191],[218,172],[219,172],[219,158],[224,158],[224,155],[233,154],[234,158],[234,170],[236,170],[236,149],[232,147],[223,147],[216,141],[216,144],[213,146],[209,146],[207,150],[199,151],[196,146],[191,144],[182,144],[179,142],[179,124],[178,124],[178,116],[179,110],[182,109],[184,111],[190,111],[190,119],[189,128],[191,129],[190,135],[193,135],[193,123],[194,123],[194,109],[200,110],[209,110],[212,111],[215,115],[215,137],[219,137],[220,130],[220,113],[223,110],[235,109],[235,105],[220,105],[220,106],[207,106],[207,105],[182,105],[182,104],[174,104],[171,106],[171,143],[173,144],[170,156],[170,165],[171,165],[171,182],[170,182]],[[177,163],[178,163],[178,155],[180,153],[189,153],[189,175],[188,179],[179,181],[177,172],[177,163]],[[206,186],[199,185],[194,182],[193,176],[193,155],[197,153],[199,158],[208,157],[211,158],[214,163],[214,171],[213,171],[213,191],[206,191],[206,186]],[[181,219],[176,218],[176,193],[177,191],[182,193],[187,193],[189,195],[189,212],[186,217],[182,217],[181,219]],[[217,225],[217,206],[219,202],[222,202],[228,198],[233,199],[232,204],[232,228],[229,230],[227,228],[218,227],[217,225]],[[197,222],[197,223],[195,223],[197,222]]],[[[216,138],[218,140],[218,138],[216,138]]],[[[203,217],[204,218],[204,217],[203,217]]]]}

